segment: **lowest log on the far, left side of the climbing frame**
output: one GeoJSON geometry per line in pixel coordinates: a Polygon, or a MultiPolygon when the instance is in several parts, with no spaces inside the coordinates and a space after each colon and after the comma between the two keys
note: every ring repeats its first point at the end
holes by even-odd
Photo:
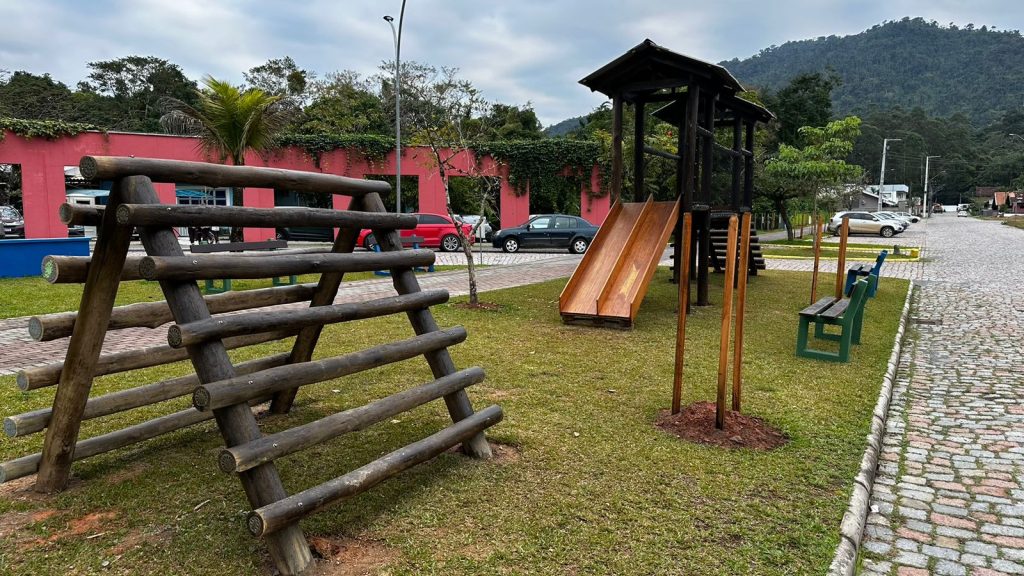
{"type": "MultiPolygon", "coordinates": [[[[256,406],[266,402],[267,400],[269,399],[263,398],[255,400],[251,402],[250,405],[256,406]]],[[[146,420],[145,422],[128,426],[127,428],[122,428],[120,430],[79,441],[75,444],[75,452],[72,457],[72,461],[77,462],[78,460],[84,460],[92,456],[105,454],[106,452],[112,452],[118,448],[138,444],[139,442],[212,419],[212,412],[200,412],[199,410],[189,408],[180,412],[168,414],[167,416],[146,420]]],[[[28,456],[23,456],[14,460],[0,462],[0,484],[36,474],[39,469],[39,461],[41,459],[42,453],[36,452],[35,454],[29,454],[28,456]]]]}

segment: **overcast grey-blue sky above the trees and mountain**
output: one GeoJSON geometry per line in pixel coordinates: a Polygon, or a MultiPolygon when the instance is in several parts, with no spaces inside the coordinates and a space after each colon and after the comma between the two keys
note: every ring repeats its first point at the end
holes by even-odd
{"type": "MultiPolygon", "coordinates": [[[[373,74],[394,44],[384,14],[401,0],[0,0],[0,70],[70,86],[86,63],[156,55],[190,78],[290,55],[323,76],[373,74]]],[[[909,15],[1024,29],[1022,0],[409,0],[402,59],[456,67],[484,95],[531,102],[545,125],[602,100],[578,81],[644,38],[701,59],[863,31],[909,15]]]]}

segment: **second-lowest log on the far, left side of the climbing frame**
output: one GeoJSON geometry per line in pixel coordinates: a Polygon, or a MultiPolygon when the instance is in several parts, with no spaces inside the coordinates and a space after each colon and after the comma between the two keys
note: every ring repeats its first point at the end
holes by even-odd
{"type": "MultiPolygon", "coordinates": [[[[282,353],[266,358],[250,360],[234,366],[234,371],[239,374],[251,374],[260,370],[266,370],[267,368],[284,366],[288,364],[288,353],[282,353]]],[[[82,419],[91,420],[133,408],[139,408],[140,406],[150,406],[158,402],[187,396],[201,383],[196,374],[188,374],[161,382],[154,382],[152,384],[90,398],[85,405],[85,412],[82,414],[82,419]]],[[[41,431],[49,423],[51,413],[51,408],[44,408],[42,410],[33,410],[24,414],[8,416],[4,418],[3,431],[11,438],[41,431]]]]}

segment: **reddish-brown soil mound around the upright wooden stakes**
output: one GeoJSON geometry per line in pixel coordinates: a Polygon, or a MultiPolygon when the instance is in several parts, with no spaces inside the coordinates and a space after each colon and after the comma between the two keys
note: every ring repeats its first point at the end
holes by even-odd
{"type": "Polygon", "coordinates": [[[663,410],[654,425],[683,440],[724,448],[771,450],[788,441],[761,418],[731,410],[725,415],[725,428],[720,430],[715,427],[715,404],[711,402],[696,402],[675,416],[663,410]]]}

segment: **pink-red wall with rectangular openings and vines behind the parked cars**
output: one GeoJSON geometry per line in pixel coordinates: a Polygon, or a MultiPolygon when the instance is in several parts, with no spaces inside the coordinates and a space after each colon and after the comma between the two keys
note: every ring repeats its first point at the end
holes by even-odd
{"type": "MultiPolygon", "coordinates": [[[[65,190],[65,168],[77,166],[83,156],[136,156],[163,158],[169,160],[212,161],[197,147],[197,140],[185,136],[135,133],[83,132],[54,140],[25,138],[12,132],[4,132],[0,140],[0,164],[22,166],[23,205],[26,238],[62,238],[68,236],[68,228],[57,218],[57,208],[67,201],[65,190]]],[[[402,150],[401,167],[403,176],[417,176],[419,181],[419,211],[444,213],[444,187],[437,170],[431,165],[430,154],[423,148],[402,150]]],[[[340,174],[355,178],[370,175],[394,175],[394,153],[383,160],[369,162],[354,150],[336,150],[321,156],[318,166],[304,151],[286,148],[271,154],[266,159],[252,154],[246,158],[250,166],[270,166],[309,172],[340,174]]],[[[455,162],[458,175],[477,167],[482,175],[502,178],[500,213],[503,228],[522,223],[529,215],[529,193],[517,196],[508,183],[508,168],[485,157],[477,165],[472,154],[463,153],[455,162]]],[[[453,173],[452,175],[456,175],[453,173]]],[[[593,198],[590,190],[597,191],[600,177],[597,167],[591,169],[590,187],[580,192],[582,216],[600,225],[608,213],[609,198],[593,198]]],[[[528,191],[528,186],[527,186],[528,191]]],[[[177,202],[173,183],[158,183],[157,192],[161,201],[167,204],[177,202]]],[[[252,207],[273,207],[274,191],[246,189],[243,203],[252,207]]],[[[348,198],[336,196],[334,206],[347,207],[348,198]]],[[[273,238],[271,229],[246,229],[246,240],[258,241],[273,238]]]]}

